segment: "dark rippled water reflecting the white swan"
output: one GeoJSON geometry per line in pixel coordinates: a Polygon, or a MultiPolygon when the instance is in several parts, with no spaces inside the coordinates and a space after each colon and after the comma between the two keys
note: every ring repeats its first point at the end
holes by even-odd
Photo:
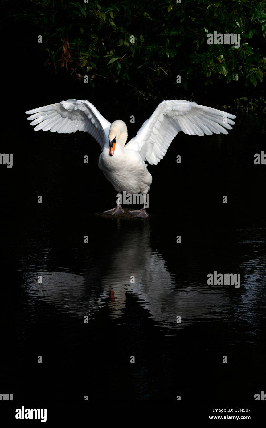
{"type": "MultiPolygon", "coordinates": [[[[120,119],[129,124],[130,115],[120,119]]],[[[130,137],[146,116],[136,114],[130,137]]],[[[13,167],[1,166],[3,392],[208,401],[266,391],[266,165],[254,165],[254,154],[266,152],[260,116],[238,117],[228,136],[179,134],[149,167],[146,220],[96,215],[114,207],[116,192],[88,135],[34,132],[25,120],[5,138],[13,167]],[[207,285],[214,271],[240,273],[240,288],[207,285]]]]}

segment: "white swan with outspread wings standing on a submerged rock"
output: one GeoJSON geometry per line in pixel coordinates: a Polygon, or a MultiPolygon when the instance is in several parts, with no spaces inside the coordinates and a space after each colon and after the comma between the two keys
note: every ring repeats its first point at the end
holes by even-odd
{"type": "MultiPolygon", "coordinates": [[[[149,192],[152,176],[146,162],[156,165],[167,152],[170,143],[179,131],[189,135],[228,134],[232,129],[231,119],[236,116],[198,105],[194,101],[162,101],[152,116],[143,123],[136,137],[129,143],[127,127],[122,120],[108,122],[99,111],[82,100],[67,100],[26,111],[31,116],[30,125],[34,130],[50,130],[70,134],[85,131],[91,134],[102,147],[99,168],[117,192],[143,193],[144,206],[137,211],[129,211],[134,217],[148,217],[145,209],[146,194],[149,192]],[[126,146],[125,146],[126,144],[126,146]]],[[[106,214],[121,214],[120,200],[114,209],[106,214]]]]}

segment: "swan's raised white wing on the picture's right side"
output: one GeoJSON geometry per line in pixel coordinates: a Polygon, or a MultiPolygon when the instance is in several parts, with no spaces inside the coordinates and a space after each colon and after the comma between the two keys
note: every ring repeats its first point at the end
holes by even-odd
{"type": "Polygon", "coordinates": [[[212,107],[198,105],[194,101],[162,101],[152,116],[143,123],[136,137],[126,144],[125,149],[140,153],[151,165],[164,157],[168,147],[179,131],[188,135],[228,134],[236,116],[212,107]],[[231,118],[231,119],[229,119],[231,118]]]}

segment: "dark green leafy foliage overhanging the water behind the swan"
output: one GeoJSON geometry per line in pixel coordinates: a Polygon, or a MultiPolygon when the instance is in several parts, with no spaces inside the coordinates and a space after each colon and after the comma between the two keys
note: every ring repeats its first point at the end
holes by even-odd
{"type": "Polygon", "coordinates": [[[45,65],[55,71],[65,68],[73,78],[87,75],[92,88],[105,80],[123,81],[149,98],[159,92],[158,81],[185,93],[218,80],[256,86],[265,76],[265,1],[22,4],[24,10],[15,18],[30,20],[42,35],[45,65]],[[208,45],[207,34],[214,31],[240,33],[240,47],[208,45]],[[177,75],[181,83],[176,83],[177,75]]]}

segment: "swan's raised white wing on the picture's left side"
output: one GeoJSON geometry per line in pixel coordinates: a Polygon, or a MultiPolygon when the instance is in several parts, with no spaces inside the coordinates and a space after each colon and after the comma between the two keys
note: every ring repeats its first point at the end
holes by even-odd
{"type": "Polygon", "coordinates": [[[97,143],[104,147],[108,142],[111,123],[87,100],[67,100],[56,104],[49,104],[26,111],[31,116],[30,125],[37,125],[34,131],[51,131],[59,134],[71,132],[88,132],[97,143]]]}

